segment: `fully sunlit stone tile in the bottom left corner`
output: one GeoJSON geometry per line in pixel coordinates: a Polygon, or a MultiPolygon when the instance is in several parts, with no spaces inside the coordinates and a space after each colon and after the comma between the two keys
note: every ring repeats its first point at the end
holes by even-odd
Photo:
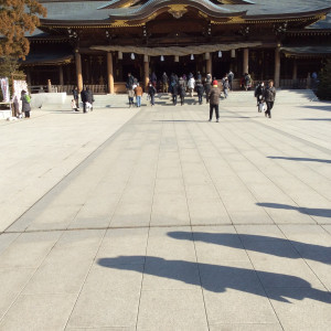
{"type": "Polygon", "coordinates": [[[63,330],[76,295],[20,296],[0,323],[0,330],[63,330]]]}

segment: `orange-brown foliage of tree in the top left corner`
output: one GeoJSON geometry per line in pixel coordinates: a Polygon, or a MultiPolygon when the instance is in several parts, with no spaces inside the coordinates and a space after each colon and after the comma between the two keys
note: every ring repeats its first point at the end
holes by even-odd
{"type": "Polygon", "coordinates": [[[30,45],[25,33],[40,25],[46,9],[36,0],[0,0],[0,56],[25,58],[30,45]]]}

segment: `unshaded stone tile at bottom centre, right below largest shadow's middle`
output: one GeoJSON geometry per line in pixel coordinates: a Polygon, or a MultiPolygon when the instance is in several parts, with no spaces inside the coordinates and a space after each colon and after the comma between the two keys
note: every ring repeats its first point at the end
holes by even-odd
{"type": "Polygon", "coordinates": [[[207,330],[201,289],[142,290],[137,330],[207,330]]]}

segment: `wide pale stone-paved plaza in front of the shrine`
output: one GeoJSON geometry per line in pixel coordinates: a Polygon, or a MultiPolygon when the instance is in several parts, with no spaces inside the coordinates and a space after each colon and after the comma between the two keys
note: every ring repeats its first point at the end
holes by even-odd
{"type": "Polygon", "coordinates": [[[0,330],[330,330],[331,104],[108,98],[0,122],[0,330]]]}

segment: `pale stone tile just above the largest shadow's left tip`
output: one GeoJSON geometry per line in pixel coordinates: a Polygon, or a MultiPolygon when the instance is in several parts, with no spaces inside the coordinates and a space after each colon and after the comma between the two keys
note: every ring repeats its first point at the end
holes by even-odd
{"type": "MultiPolygon", "coordinates": [[[[108,229],[100,245],[97,258],[113,258],[118,256],[141,256],[139,263],[145,263],[148,228],[111,228],[108,229]]],[[[120,261],[121,263],[121,261],[120,261]]],[[[137,259],[134,259],[137,263],[137,259]]]]}

